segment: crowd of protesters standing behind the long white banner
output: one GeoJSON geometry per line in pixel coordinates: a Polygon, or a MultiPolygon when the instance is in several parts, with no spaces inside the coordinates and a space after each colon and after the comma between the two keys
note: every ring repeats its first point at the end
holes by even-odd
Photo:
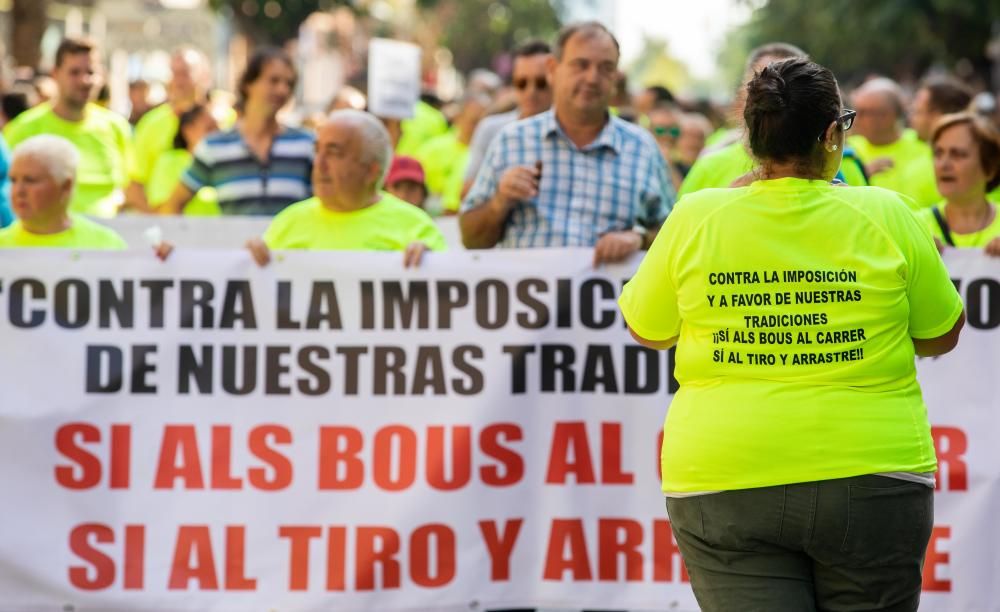
{"type": "MultiPolygon", "coordinates": [[[[742,82],[771,62],[806,56],[791,45],[764,45],[748,58],[742,82]]],[[[757,176],[742,121],[742,86],[729,122],[660,85],[629,92],[618,43],[595,22],[568,26],[553,45],[528,41],[512,49],[511,58],[506,81],[479,70],[457,100],[442,105],[428,95],[408,119],[378,117],[393,155],[373,157],[381,164],[376,196],[350,210],[397,199],[431,216],[458,214],[467,248],[587,246],[601,263],[648,247],[676,197],[749,184],[757,176]]],[[[132,112],[123,117],[96,99],[101,66],[96,43],[65,39],[51,75],[39,79],[30,96],[15,92],[14,102],[4,105],[0,226],[17,218],[5,243],[14,244],[9,232],[34,227],[31,207],[17,195],[21,183],[6,170],[10,149],[35,136],[62,138],[78,153],[72,189],[51,202],[65,208],[66,227],[80,215],[274,216],[313,201],[321,191],[317,183],[330,180],[318,176],[317,135],[332,113],[366,108],[364,93],[348,86],[327,115],[291,125],[283,109],[294,95],[295,63],[267,47],[250,58],[235,103],[219,104],[209,95],[207,58],[181,48],[171,56],[166,100],[150,106],[143,97],[148,84],[136,82],[132,112]]],[[[996,104],[988,93],[974,93],[940,74],[912,96],[885,77],[861,83],[846,96],[857,115],[834,180],[907,196],[942,250],[1000,255],[996,104]]],[[[37,152],[53,141],[31,144],[27,150],[37,152]]],[[[367,155],[361,149],[353,154],[367,155]]],[[[341,198],[341,188],[325,190],[333,194],[323,200],[327,209],[343,212],[331,199],[341,198]]],[[[28,242],[45,243],[36,238],[28,242]]],[[[394,239],[388,244],[405,248],[394,239]]],[[[321,240],[286,248],[359,247],[321,240]]]]}

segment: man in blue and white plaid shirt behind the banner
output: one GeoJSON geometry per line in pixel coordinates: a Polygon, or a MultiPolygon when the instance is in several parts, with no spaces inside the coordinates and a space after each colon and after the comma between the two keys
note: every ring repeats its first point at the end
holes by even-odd
{"type": "Polygon", "coordinates": [[[674,189],[652,137],[608,112],[618,56],[599,23],[560,32],[553,108],[494,139],[462,203],[466,247],[593,246],[600,264],[649,246],[674,189]]]}

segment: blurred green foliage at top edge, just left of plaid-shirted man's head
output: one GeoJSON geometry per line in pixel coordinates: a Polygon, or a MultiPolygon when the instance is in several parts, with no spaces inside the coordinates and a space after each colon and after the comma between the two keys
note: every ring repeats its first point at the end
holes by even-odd
{"type": "Polygon", "coordinates": [[[528,38],[552,40],[560,26],[559,3],[549,0],[418,0],[417,5],[447,16],[440,43],[462,72],[491,66],[528,38]]]}

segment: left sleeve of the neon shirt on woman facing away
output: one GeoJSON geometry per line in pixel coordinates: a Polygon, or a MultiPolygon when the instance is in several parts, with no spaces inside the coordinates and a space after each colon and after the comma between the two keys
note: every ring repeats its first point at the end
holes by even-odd
{"type": "Polygon", "coordinates": [[[676,215],[667,217],[618,299],[628,326],[647,340],[667,340],[680,334],[681,317],[671,262],[675,261],[675,238],[684,233],[679,231],[676,218],[676,215]]]}

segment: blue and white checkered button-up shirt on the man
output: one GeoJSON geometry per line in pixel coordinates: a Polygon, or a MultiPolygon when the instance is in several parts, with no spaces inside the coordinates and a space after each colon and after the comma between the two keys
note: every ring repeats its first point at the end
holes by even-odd
{"type": "Polygon", "coordinates": [[[497,246],[590,247],[607,232],[656,228],[673,207],[666,164],[645,130],[610,116],[597,139],[581,149],[549,110],[494,138],[462,211],[488,202],[508,168],[533,167],[538,160],[538,195],[514,205],[497,246]]]}

